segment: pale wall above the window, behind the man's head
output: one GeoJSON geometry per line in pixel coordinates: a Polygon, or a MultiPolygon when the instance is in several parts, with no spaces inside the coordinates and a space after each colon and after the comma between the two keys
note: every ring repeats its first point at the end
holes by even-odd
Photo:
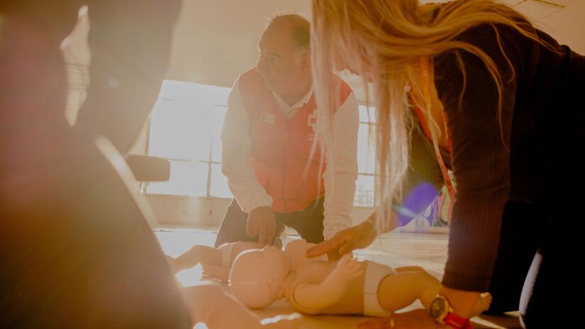
{"type": "Polygon", "coordinates": [[[308,17],[308,0],[184,0],[174,33],[170,79],[230,87],[257,60],[257,43],[274,11],[308,17]]]}

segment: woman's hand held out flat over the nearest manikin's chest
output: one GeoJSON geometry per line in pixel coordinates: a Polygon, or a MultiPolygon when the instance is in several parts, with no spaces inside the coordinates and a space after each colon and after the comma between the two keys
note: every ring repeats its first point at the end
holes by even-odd
{"type": "Polygon", "coordinates": [[[328,254],[329,260],[338,260],[341,255],[355,249],[362,249],[376,239],[377,233],[374,224],[364,221],[360,225],[340,230],[333,238],[307,249],[308,258],[328,254]]]}

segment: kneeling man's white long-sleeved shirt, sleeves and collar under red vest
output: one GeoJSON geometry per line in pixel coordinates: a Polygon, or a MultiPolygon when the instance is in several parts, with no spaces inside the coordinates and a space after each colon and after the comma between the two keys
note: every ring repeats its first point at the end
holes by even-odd
{"type": "MultiPolygon", "coordinates": [[[[306,104],[313,94],[313,88],[294,104],[289,104],[274,94],[280,111],[289,120],[306,104]]],[[[325,211],[323,235],[325,239],[333,237],[339,230],[351,225],[351,211],[357,179],[357,129],[360,126],[357,99],[352,93],[340,106],[333,117],[333,159],[328,159],[332,167],[333,177],[327,170],[323,174],[325,180],[325,211]],[[333,162],[333,163],[332,163],[333,162]],[[333,189],[335,180],[335,189],[333,189]]],[[[250,119],[245,111],[239,80],[235,82],[228,96],[228,111],[225,113],[221,134],[223,143],[222,171],[228,178],[230,191],[240,208],[245,213],[261,206],[272,206],[272,197],[258,182],[254,169],[250,165],[250,119]]]]}

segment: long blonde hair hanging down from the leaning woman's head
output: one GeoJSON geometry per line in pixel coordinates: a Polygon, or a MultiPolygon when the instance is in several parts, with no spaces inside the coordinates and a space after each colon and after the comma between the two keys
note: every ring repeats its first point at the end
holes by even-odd
{"type": "MultiPolygon", "coordinates": [[[[387,217],[394,203],[402,197],[401,185],[408,168],[408,145],[413,128],[408,114],[405,87],[412,74],[420,74],[420,59],[447,52],[455,52],[465,73],[459,51],[476,55],[496,82],[499,95],[498,115],[501,119],[503,80],[494,60],[476,46],[457,40],[465,30],[481,24],[494,27],[498,45],[503,52],[496,24],[509,26],[527,38],[540,42],[535,28],[527,18],[508,6],[491,0],[455,0],[442,4],[433,19],[423,21],[417,0],[313,0],[311,29],[311,57],[318,101],[319,121],[327,129],[333,120],[335,87],[331,86],[330,72],[341,60],[362,77],[371,77],[377,108],[375,141],[379,165],[379,191],[389,198],[386,207],[380,207],[378,216],[387,217]]],[[[364,79],[367,90],[367,82],[364,79]]],[[[421,86],[413,86],[419,88],[421,86]]],[[[459,107],[462,106],[462,94],[459,107]]],[[[369,96],[367,96],[369,103],[369,96]]],[[[425,109],[429,111],[429,108],[425,109]]],[[[430,118],[430,128],[437,130],[430,118]]],[[[330,130],[327,129],[327,134],[330,130]]],[[[325,149],[331,140],[325,135],[325,149]]],[[[384,221],[378,220],[378,230],[385,231],[384,221]]]]}

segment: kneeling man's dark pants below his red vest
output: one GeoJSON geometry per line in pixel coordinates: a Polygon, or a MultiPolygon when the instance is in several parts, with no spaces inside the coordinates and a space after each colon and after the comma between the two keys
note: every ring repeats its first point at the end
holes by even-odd
{"type": "MultiPolygon", "coordinates": [[[[293,213],[276,213],[277,229],[274,239],[278,239],[284,226],[294,228],[307,242],[318,243],[323,241],[323,198],[311,203],[302,211],[293,213]]],[[[258,237],[250,237],[246,233],[248,214],[243,212],[235,199],[228,206],[218,231],[216,247],[223,243],[235,241],[258,242],[258,237]]]]}

